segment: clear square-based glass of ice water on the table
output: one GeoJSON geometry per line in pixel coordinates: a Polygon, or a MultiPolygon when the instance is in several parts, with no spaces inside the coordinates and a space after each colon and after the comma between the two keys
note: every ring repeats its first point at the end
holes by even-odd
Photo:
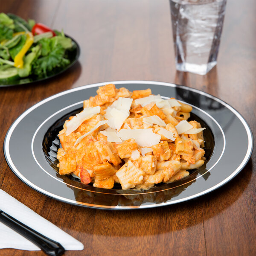
{"type": "Polygon", "coordinates": [[[227,0],[170,0],[176,69],[205,75],[217,64],[227,0]]]}

